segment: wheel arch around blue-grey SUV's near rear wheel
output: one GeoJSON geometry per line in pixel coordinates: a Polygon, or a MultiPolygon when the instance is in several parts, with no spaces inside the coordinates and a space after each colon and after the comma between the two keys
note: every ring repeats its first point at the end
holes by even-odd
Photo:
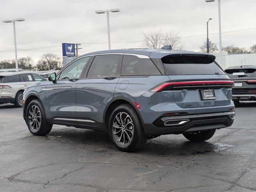
{"type": "Polygon", "coordinates": [[[136,110],[137,114],[139,115],[139,118],[141,120],[141,123],[143,124],[143,119],[141,117],[141,114],[138,110],[138,108],[135,106],[135,103],[132,102],[131,100],[122,97],[122,96],[118,96],[113,98],[111,101],[109,101],[109,103],[107,104],[104,113],[103,113],[103,120],[105,123],[106,128],[108,128],[109,126],[109,118],[111,116],[111,112],[119,105],[121,104],[130,104],[131,106],[133,106],[133,108],[136,110]]]}

